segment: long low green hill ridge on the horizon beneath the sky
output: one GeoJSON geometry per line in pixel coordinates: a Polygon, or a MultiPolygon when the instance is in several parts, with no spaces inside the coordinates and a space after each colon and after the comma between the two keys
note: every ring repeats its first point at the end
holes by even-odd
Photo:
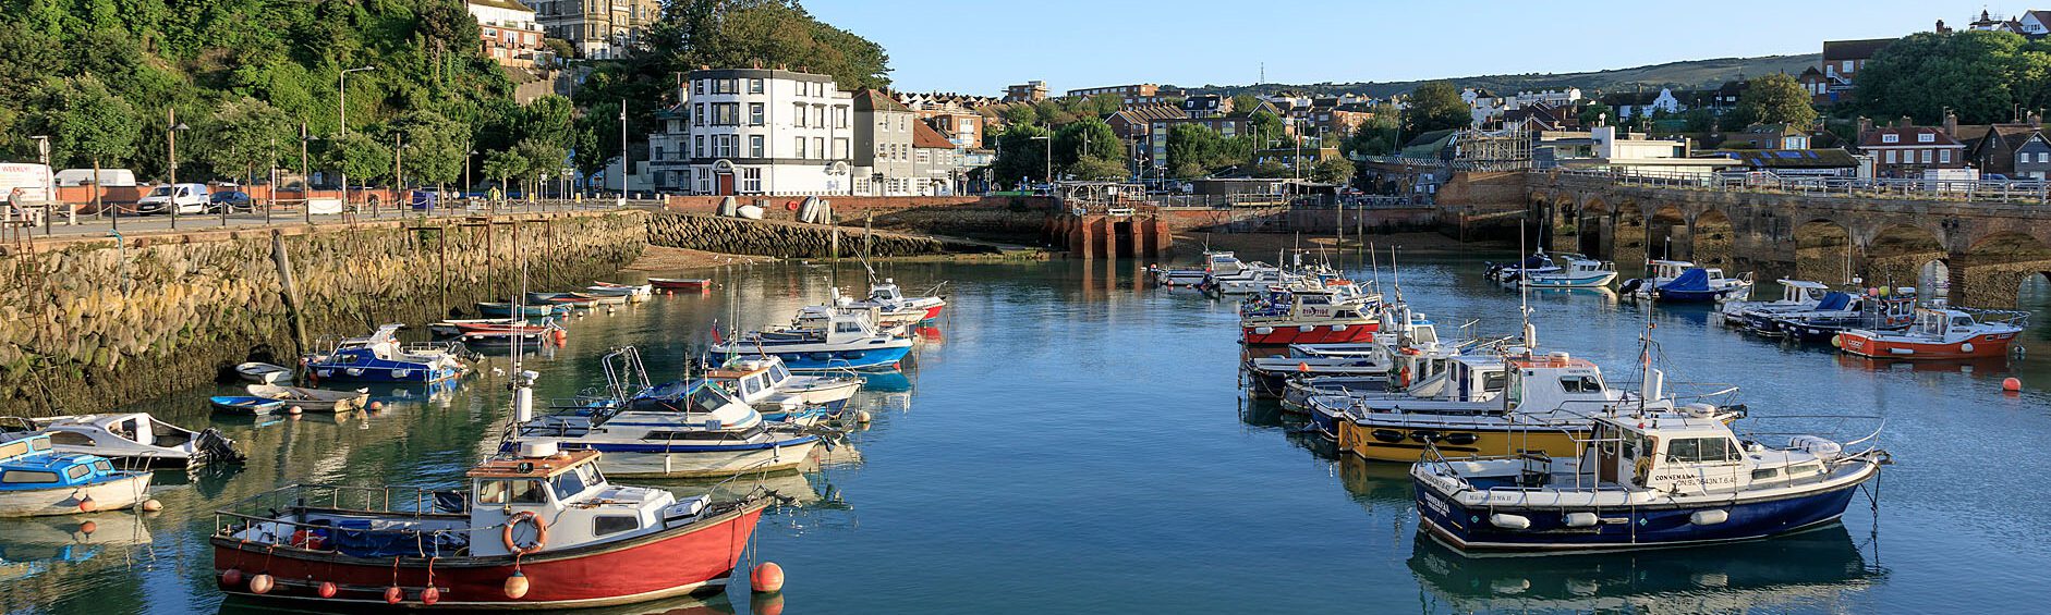
{"type": "MultiPolygon", "coordinates": [[[[1803,70],[1821,61],[1821,53],[1801,53],[1801,55],[1762,55],[1762,57],[1717,57],[1717,59],[1688,59],[1688,61],[1667,61],[1637,68],[1616,68],[1616,70],[1592,70],[1592,72],[1561,72],[1561,74],[1491,74],[1491,76],[1466,76],[1450,78],[1460,88],[1487,88],[1497,94],[1512,94],[1518,90],[1546,90],[1546,88],[1581,88],[1583,92],[1635,92],[1635,90],[1659,90],[1659,88],[1715,88],[1727,80],[1739,76],[1762,76],[1774,72],[1801,74],[1803,70]]],[[[1376,98],[1386,98],[1391,94],[1409,92],[1427,80],[1411,82],[1354,82],[1354,84],[1253,84],[1253,86],[1202,86],[1190,88],[1192,94],[1272,94],[1272,92],[1309,92],[1309,94],[1366,94],[1376,98]]]]}

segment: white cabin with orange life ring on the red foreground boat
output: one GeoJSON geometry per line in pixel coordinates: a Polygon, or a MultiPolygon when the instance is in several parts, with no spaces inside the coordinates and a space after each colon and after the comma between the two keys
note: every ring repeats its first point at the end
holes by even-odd
{"type": "MultiPolygon", "coordinates": [[[[710,496],[677,502],[669,490],[605,482],[599,451],[558,451],[554,443],[521,443],[470,469],[470,556],[509,556],[507,523],[533,515],[548,525],[537,549],[568,549],[654,533],[695,517],[710,496]]],[[[513,523],[517,545],[535,545],[539,525],[513,523]]]]}

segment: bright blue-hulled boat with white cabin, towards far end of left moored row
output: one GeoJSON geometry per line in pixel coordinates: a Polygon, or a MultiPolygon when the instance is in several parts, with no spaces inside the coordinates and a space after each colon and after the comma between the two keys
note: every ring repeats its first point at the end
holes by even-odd
{"type": "Polygon", "coordinates": [[[749,332],[712,344],[714,355],[775,355],[792,371],[896,369],[911,353],[911,336],[878,332],[868,318],[833,314],[825,328],[749,332]]]}

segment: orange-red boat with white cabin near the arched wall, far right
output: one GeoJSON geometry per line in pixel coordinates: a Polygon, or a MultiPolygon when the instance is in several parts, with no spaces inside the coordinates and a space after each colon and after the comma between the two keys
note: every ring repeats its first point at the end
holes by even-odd
{"type": "Polygon", "coordinates": [[[1916,310],[1905,330],[1846,330],[1838,348],[1873,359],[1985,359],[2006,357],[2008,344],[2028,326],[2028,312],[1916,310]]]}

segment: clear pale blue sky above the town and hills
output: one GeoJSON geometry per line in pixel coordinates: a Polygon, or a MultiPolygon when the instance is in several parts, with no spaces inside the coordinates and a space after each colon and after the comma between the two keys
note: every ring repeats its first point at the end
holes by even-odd
{"type": "MultiPolygon", "coordinates": [[[[2051,0],[2043,0],[2051,8],[2051,0]]],[[[882,43],[902,90],[1003,94],[1046,80],[1202,86],[1583,72],[1678,59],[1819,53],[1827,39],[1963,27],[1955,0],[806,0],[882,43]]]]}

